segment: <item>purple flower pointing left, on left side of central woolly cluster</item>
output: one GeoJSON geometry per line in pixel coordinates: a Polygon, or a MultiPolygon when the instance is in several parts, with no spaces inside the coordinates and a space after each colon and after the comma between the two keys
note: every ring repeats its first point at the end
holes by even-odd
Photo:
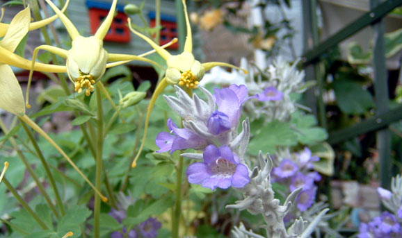
{"type": "Polygon", "coordinates": [[[173,153],[177,150],[202,148],[207,145],[207,141],[204,138],[187,128],[178,128],[170,118],[168,119],[168,128],[173,135],[166,132],[159,133],[156,136],[156,145],[161,149],[156,152],[170,151],[170,153],[173,153]]]}

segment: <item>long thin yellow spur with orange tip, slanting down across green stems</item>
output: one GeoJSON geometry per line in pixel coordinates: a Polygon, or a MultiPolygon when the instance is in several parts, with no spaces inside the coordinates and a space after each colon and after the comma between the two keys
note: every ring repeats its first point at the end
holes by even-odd
{"type": "Polygon", "coordinates": [[[22,121],[24,121],[26,124],[28,124],[29,126],[31,126],[31,128],[33,128],[33,130],[35,130],[37,133],[39,133],[40,135],[42,135],[42,137],[45,137],[45,139],[47,139],[47,141],[54,146],[54,148],[56,148],[56,150],[58,150],[58,152],[61,153],[61,155],[63,155],[63,157],[67,160],[67,162],[69,162],[71,164],[71,166],[79,173],[79,175],[81,175],[81,177],[86,180],[86,182],[88,182],[88,185],[90,185],[90,187],[92,187],[95,192],[102,198],[102,201],[104,201],[105,203],[108,201],[108,198],[106,198],[106,196],[103,196],[97,189],[96,187],[93,185],[92,182],[90,182],[90,180],[82,173],[82,171],[79,169],[79,167],[77,167],[76,164],[74,164],[74,162],[72,162],[72,160],[70,159],[70,157],[68,157],[68,155],[63,151],[62,148],[60,148],[60,146],[58,146],[58,144],[56,144],[56,142],[54,142],[53,139],[51,139],[51,137],[49,137],[49,135],[47,135],[47,133],[45,133],[44,130],[42,130],[42,128],[40,128],[37,124],[35,124],[34,121],[31,120],[31,118],[29,118],[28,116],[24,115],[22,117],[18,116],[19,119],[21,119],[22,121]]]}

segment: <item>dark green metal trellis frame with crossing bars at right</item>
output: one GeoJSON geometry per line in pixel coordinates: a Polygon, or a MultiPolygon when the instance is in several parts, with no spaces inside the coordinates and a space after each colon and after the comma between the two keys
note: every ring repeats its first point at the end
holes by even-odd
{"type": "MultiPolygon", "coordinates": [[[[358,124],[355,124],[349,128],[344,128],[336,132],[330,133],[328,142],[330,144],[337,144],[344,142],[347,139],[351,139],[363,133],[370,131],[377,131],[377,148],[378,156],[380,158],[380,180],[381,187],[389,189],[391,184],[391,135],[388,129],[389,124],[399,119],[402,119],[402,107],[394,110],[389,110],[389,98],[388,98],[388,85],[387,85],[387,68],[385,65],[385,39],[384,39],[384,26],[383,17],[394,8],[402,5],[402,0],[387,0],[381,3],[380,0],[370,0],[370,12],[365,13],[362,17],[358,18],[351,24],[348,24],[345,28],[329,37],[328,40],[318,44],[316,35],[318,34],[318,28],[316,27],[316,0],[303,1],[303,24],[305,28],[304,45],[306,51],[303,55],[303,62],[306,67],[306,77],[316,78],[317,88],[316,94],[318,99],[316,101],[309,101],[310,107],[318,105],[317,110],[313,109],[313,112],[317,112],[319,116],[320,125],[326,126],[325,107],[323,105],[322,92],[323,92],[323,78],[321,78],[320,72],[317,69],[319,59],[325,56],[325,53],[332,47],[339,44],[341,41],[350,37],[351,35],[362,30],[366,26],[372,26],[375,32],[374,37],[374,52],[373,52],[373,65],[374,65],[374,91],[376,94],[376,108],[377,113],[375,117],[366,119],[358,124]],[[312,44],[312,45],[311,45],[312,44]]],[[[314,95],[314,94],[312,94],[314,95]]],[[[310,96],[311,98],[311,96],[310,96]]]]}

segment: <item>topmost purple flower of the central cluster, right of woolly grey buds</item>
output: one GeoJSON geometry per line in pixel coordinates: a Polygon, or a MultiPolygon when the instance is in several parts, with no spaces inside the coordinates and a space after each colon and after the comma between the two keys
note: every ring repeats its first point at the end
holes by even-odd
{"type": "Polygon", "coordinates": [[[230,127],[234,128],[239,124],[241,116],[241,105],[250,97],[245,85],[230,85],[223,89],[215,89],[215,102],[218,105],[218,111],[227,115],[230,121],[230,127]]]}

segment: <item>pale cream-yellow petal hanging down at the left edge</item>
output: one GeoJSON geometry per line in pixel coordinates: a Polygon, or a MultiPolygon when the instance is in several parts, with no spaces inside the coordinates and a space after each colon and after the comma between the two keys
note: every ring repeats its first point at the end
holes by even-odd
{"type": "Polygon", "coordinates": [[[19,116],[25,114],[21,86],[8,65],[0,65],[0,108],[19,116]]]}

